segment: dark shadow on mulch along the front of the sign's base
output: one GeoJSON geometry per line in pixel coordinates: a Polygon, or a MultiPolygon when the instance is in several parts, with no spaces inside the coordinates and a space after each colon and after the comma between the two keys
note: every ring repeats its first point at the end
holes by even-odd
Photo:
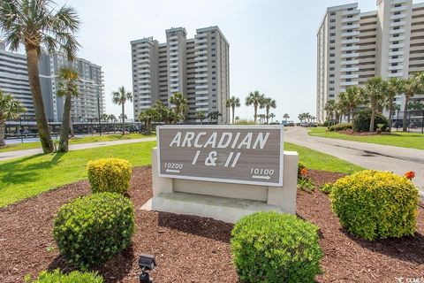
{"type": "Polygon", "coordinates": [[[230,242],[231,230],[234,227],[231,223],[212,218],[192,215],[185,215],[184,218],[181,218],[178,214],[167,212],[159,212],[158,226],[226,243],[230,242]]]}

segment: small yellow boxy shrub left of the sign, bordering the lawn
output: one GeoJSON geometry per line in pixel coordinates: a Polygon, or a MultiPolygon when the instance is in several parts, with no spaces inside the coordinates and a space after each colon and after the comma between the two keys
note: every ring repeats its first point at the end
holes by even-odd
{"type": "Polygon", "coordinates": [[[125,193],[130,187],[131,164],[125,159],[101,158],[87,164],[93,193],[125,193]]]}

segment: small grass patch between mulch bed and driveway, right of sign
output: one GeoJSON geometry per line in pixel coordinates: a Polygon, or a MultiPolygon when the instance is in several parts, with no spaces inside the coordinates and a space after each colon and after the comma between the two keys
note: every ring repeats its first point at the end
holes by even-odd
{"type": "Polygon", "coordinates": [[[308,149],[289,142],[284,143],[284,150],[298,151],[299,161],[305,164],[307,169],[329,172],[343,172],[346,174],[364,170],[364,168],[358,165],[349,163],[337,157],[333,157],[314,149],[308,149]]]}

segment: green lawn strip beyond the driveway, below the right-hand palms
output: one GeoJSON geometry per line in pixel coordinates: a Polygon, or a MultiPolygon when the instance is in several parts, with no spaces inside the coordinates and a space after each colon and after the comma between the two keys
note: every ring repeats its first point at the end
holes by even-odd
{"type": "Polygon", "coordinates": [[[392,145],[403,148],[424,149],[424,134],[392,132],[391,134],[382,135],[352,135],[339,134],[336,132],[326,131],[327,127],[310,128],[308,134],[321,136],[324,138],[354,141],[354,142],[370,142],[384,145],[392,145]]]}

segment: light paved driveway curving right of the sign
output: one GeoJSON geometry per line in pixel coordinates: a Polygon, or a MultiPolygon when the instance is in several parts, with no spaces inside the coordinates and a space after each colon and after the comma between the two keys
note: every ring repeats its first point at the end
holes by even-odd
{"type": "Polygon", "coordinates": [[[424,150],[407,149],[367,142],[350,142],[311,136],[303,127],[286,127],[284,141],[292,142],[344,159],[364,168],[403,175],[416,173],[413,180],[424,195],[424,150]]]}

